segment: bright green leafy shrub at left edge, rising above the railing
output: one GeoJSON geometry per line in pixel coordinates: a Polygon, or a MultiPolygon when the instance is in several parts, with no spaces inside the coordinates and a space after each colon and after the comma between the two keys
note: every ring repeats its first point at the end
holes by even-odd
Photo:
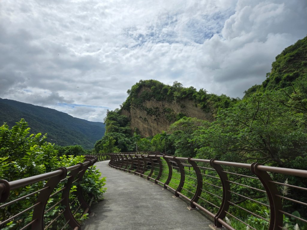
{"type": "Polygon", "coordinates": [[[7,161],[8,180],[21,179],[51,171],[56,156],[53,146],[45,142],[46,135],[29,135],[30,128],[24,119],[9,129],[4,124],[0,127],[0,156],[7,161]]]}

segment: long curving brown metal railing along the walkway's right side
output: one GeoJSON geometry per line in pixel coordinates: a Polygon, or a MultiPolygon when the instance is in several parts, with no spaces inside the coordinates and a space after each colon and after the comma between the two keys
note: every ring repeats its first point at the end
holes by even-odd
{"type": "Polygon", "coordinates": [[[183,197],[189,209],[204,211],[217,228],[257,230],[258,223],[261,229],[288,229],[284,224],[291,220],[307,229],[305,170],[159,153],[110,154],[110,159],[111,167],[137,174],[173,191],[175,197],[183,197]],[[296,185],[289,184],[288,177],[296,185]]]}

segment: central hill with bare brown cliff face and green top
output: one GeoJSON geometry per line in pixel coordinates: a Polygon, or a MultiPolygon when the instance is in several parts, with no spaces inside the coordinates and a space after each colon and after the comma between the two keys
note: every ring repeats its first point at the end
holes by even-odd
{"type": "Polygon", "coordinates": [[[107,114],[107,133],[131,135],[137,130],[141,136],[154,136],[184,116],[214,121],[218,108],[227,108],[237,100],[192,86],[185,88],[179,82],[169,86],[157,80],[140,80],[127,93],[121,109],[107,114]]]}

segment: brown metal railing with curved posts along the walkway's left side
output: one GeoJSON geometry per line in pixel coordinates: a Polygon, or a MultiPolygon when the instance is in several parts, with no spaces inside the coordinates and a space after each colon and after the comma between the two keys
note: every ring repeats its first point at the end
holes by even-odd
{"type": "Polygon", "coordinates": [[[91,194],[84,194],[82,192],[80,182],[82,182],[87,168],[92,166],[98,158],[94,155],[87,155],[85,159],[83,163],[78,163],[67,168],[60,167],[56,171],[49,173],[11,182],[0,180],[0,202],[4,203],[0,205],[0,210],[2,210],[3,213],[5,209],[12,207],[12,205],[17,205],[18,202],[27,200],[33,201],[27,209],[20,213],[5,215],[9,217],[1,219],[0,228],[6,227],[12,220],[19,223],[25,221],[20,218],[18,219],[18,217],[24,213],[29,213],[29,216],[32,215],[32,218],[28,223],[23,224],[22,228],[20,228],[21,230],[64,229],[68,225],[74,230],[81,229],[81,225],[75,217],[80,211],[81,215],[90,212],[90,204],[88,204],[84,195],[88,197],[91,196],[91,194]],[[22,190],[25,186],[34,186],[37,183],[42,183],[41,189],[20,196],[15,200],[10,199],[10,194],[12,192],[17,193],[17,191],[22,190]],[[73,191],[72,186],[74,187],[73,191]],[[70,194],[71,191],[73,194],[70,194]],[[69,197],[74,198],[73,200],[69,200],[69,197]],[[59,209],[58,207],[61,208],[59,209]],[[49,217],[52,216],[53,219],[46,223],[46,221],[44,221],[46,215],[49,217]],[[64,224],[59,227],[58,224],[61,219],[64,224]]]}

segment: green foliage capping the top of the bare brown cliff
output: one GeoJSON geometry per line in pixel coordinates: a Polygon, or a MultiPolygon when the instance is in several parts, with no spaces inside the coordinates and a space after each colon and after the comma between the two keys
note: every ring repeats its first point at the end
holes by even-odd
{"type": "MultiPolygon", "coordinates": [[[[140,80],[127,91],[128,98],[122,104],[121,109],[130,110],[131,106],[145,110],[149,115],[160,116],[160,111],[154,108],[147,108],[143,105],[145,101],[155,99],[157,101],[181,102],[182,100],[190,100],[196,107],[200,107],[205,112],[211,111],[216,113],[218,108],[228,108],[238,99],[229,98],[226,95],[217,96],[216,94],[208,94],[206,90],[197,91],[190,86],[185,88],[181,83],[175,81],[173,86],[165,85],[157,80],[140,80]]],[[[184,104],[182,104],[184,106],[184,104]]],[[[169,116],[170,121],[176,121],[176,118],[183,117],[180,114],[173,114],[170,108],[165,108],[163,113],[169,116]]],[[[178,119],[177,119],[178,120],[178,119]]]]}

